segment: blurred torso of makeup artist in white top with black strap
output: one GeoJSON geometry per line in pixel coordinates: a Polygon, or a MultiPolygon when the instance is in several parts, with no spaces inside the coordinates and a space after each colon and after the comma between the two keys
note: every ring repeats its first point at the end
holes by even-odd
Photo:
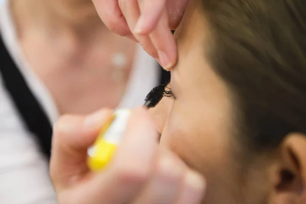
{"type": "Polygon", "coordinates": [[[48,162],[63,114],[133,108],[169,80],[91,0],[0,0],[0,203],[56,203],[48,162]]]}

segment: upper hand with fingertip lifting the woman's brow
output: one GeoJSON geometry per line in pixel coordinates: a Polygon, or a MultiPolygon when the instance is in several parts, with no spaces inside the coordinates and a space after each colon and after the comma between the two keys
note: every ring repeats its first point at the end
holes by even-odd
{"type": "Polygon", "coordinates": [[[177,60],[171,30],[179,25],[190,0],[92,0],[106,26],[138,41],[167,70],[177,60]]]}

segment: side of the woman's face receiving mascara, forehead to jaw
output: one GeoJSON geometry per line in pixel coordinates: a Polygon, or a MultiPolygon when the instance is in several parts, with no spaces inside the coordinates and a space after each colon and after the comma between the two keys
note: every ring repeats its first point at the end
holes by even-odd
{"type": "Polygon", "coordinates": [[[175,99],[164,97],[151,110],[162,133],[160,145],[205,175],[204,203],[246,203],[233,153],[238,138],[232,134],[230,92],[204,58],[205,20],[194,5],[190,7],[175,34],[179,62],[170,82],[175,99]]]}

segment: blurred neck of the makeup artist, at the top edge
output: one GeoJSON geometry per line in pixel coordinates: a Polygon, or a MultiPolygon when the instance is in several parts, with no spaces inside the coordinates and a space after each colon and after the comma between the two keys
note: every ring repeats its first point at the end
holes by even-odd
{"type": "Polygon", "coordinates": [[[90,0],[13,0],[11,8],[18,32],[39,27],[48,34],[69,32],[86,38],[106,29],[90,0]]]}

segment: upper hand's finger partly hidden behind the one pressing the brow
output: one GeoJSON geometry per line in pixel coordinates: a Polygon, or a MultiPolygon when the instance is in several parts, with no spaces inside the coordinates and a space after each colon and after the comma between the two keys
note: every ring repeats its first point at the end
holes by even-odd
{"type": "Polygon", "coordinates": [[[151,42],[148,35],[138,35],[134,32],[137,20],[140,16],[140,10],[137,0],[119,1],[120,9],[123,15],[126,18],[127,24],[129,25],[130,30],[132,31],[136,40],[141,44],[142,48],[154,58],[158,57],[157,50],[155,49],[153,43],[151,42]]]}

